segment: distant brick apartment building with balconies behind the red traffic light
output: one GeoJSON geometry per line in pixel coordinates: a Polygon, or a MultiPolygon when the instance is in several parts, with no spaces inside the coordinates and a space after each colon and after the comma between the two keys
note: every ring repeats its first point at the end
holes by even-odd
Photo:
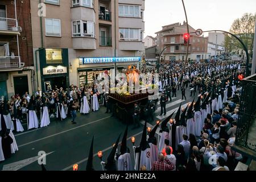
{"type": "MultiPolygon", "coordinates": [[[[189,26],[189,32],[196,32],[196,30],[189,26]]],[[[183,24],[174,23],[163,26],[161,31],[156,32],[156,44],[159,51],[167,47],[161,56],[162,60],[181,61],[185,59],[187,45],[184,44],[184,33],[187,33],[187,24],[185,22],[183,24]]],[[[191,34],[188,59],[197,61],[208,59],[209,53],[207,53],[207,47],[207,38],[191,34]]]]}

